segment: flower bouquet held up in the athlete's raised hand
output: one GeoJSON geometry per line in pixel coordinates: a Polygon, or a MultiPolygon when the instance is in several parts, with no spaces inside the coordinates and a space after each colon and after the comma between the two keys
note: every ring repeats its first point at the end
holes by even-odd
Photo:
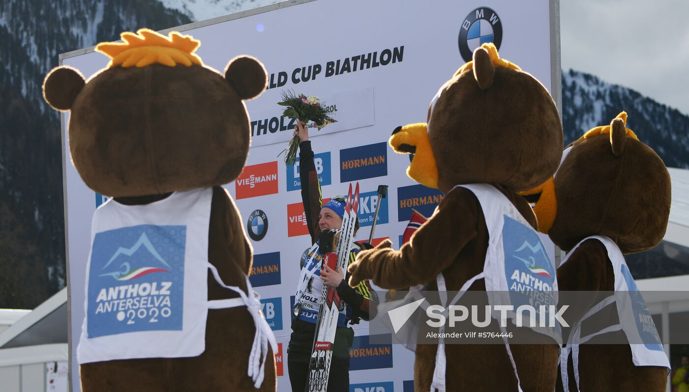
{"type": "MultiPolygon", "coordinates": [[[[333,110],[320,102],[316,96],[294,94],[294,91],[290,90],[282,91],[282,102],[278,102],[278,105],[285,106],[285,110],[282,111],[282,117],[296,118],[304,124],[312,122],[313,124],[310,124],[311,127],[317,128],[318,131],[327,124],[336,122],[336,120],[329,116],[333,110]]],[[[287,152],[285,154],[285,164],[294,164],[298,146],[299,136],[295,136],[287,144],[287,149],[282,150],[281,153],[287,152]]]]}

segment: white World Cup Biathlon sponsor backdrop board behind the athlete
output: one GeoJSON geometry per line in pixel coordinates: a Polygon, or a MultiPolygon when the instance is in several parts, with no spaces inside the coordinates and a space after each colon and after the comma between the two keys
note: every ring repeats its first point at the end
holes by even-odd
{"type": "MultiPolygon", "coordinates": [[[[443,195],[407,177],[409,157],[387,145],[393,129],[424,122],[438,87],[467,60],[462,54],[486,41],[495,41],[501,56],[555,89],[559,102],[557,12],[555,0],[534,0],[528,6],[507,0],[298,0],[174,29],[201,41],[197,53],[207,65],[224,69],[234,56],[250,54],[265,64],[269,74],[267,90],[247,102],[252,146],[247,167],[225,188],[236,200],[251,238],[251,281],[280,343],[278,391],[289,391],[291,296],[300,255],[310,246],[300,204],[298,163],[285,167],[278,157],[294,127],[293,119],[280,118],[282,110],[276,105],[280,93],[293,89],[320,96],[335,107],[338,122],[310,132],[323,197],[346,194],[349,182],[360,182],[362,228],[356,239],[368,239],[380,204],[374,242],[390,238],[397,248],[411,209],[431,215],[443,195]],[[298,45],[290,45],[285,34],[302,38],[298,45]],[[389,186],[387,199],[378,200],[379,184],[389,186]]],[[[63,54],[61,62],[90,76],[107,64],[107,58],[90,49],[63,54]]],[[[63,115],[65,146],[68,118],[63,115]]],[[[72,389],[79,391],[76,344],[85,310],[91,219],[107,197],[85,186],[69,155],[63,162],[72,389]]],[[[548,244],[553,257],[555,248],[548,244]]],[[[371,345],[365,322],[354,329],[351,391],[409,390],[409,382],[399,375],[408,375],[407,381],[411,378],[413,353],[399,345],[371,345]]]]}

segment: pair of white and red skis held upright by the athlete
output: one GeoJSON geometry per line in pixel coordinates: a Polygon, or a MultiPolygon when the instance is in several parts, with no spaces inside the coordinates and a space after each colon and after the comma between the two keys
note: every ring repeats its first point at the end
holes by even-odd
{"type": "MultiPolygon", "coordinates": [[[[342,230],[336,253],[328,252],[323,255],[323,263],[332,270],[340,268],[342,274],[347,274],[349,263],[349,251],[352,248],[354,237],[354,224],[358,219],[359,210],[359,183],[356,183],[354,194],[349,184],[345,214],[342,216],[342,230]]],[[[309,380],[306,392],[326,392],[328,389],[328,376],[333,357],[332,346],[335,342],[335,332],[338,326],[340,312],[345,310],[345,303],[338,296],[336,287],[323,285],[322,300],[318,309],[318,322],[316,323],[316,336],[313,337],[313,351],[309,362],[309,380]]]]}

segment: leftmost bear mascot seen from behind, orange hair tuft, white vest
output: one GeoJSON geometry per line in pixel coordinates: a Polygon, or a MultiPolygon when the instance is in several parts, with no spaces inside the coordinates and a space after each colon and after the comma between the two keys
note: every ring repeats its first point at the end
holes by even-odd
{"type": "Polygon", "coordinates": [[[275,391],[275,338],[247,274],[251,245],[220,185],[249,152],[243,100],[266,86],[249,56],[224,74],[199,41],[151,30],[101,43],[85,81],[53,69],[43,94],[71,111],[72,162],[96,210],[77,358],[92,391],[275,391]]]}

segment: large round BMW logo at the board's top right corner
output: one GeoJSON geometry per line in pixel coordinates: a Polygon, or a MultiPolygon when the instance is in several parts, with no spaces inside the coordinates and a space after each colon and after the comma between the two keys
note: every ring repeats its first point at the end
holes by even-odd
{"type": "Polygon", "coordinates": [[[495,43],[500,50],[502,43],[502,22],[495,11],[479,7],[466,15],[460,28],[460,54],[464,61],[471,61],[473,51],[484,43],[495,43]]]}

